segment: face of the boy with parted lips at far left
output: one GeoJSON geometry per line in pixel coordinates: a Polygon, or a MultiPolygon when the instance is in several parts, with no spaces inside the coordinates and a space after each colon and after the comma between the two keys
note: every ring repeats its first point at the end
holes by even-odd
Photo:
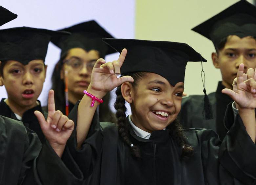
{"type": "Polygon", "coordinates": [[[32,60],[27,65],[6,61],[0,85],[5,85],[8,99],[21,107],[35,106],[46,77],[43,60],[32,60]]]}

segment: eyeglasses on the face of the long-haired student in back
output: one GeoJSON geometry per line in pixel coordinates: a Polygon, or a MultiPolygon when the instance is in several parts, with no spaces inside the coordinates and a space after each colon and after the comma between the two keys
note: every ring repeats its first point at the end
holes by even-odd
{"type": "Polygon", "coordinates": [[[80,71],[85,65],[87,71],[91,73],[93,71],[93,66],[96,63],[96,60],[85,63],[80,58],[72,57],[70,59],[64,60],[63,63],[71,66],[76,71],[80,71]]]}

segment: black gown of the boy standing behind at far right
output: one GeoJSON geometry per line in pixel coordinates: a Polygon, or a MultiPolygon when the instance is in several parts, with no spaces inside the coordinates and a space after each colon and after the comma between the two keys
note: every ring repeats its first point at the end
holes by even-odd
{"type": "Polygon", "coordinates": [[[221,91],[225,87],[219,82],[216,92],[208,95],[212,104],[213,119],[203,118],[204,95],[192,95],[182,99],[179,119],[183,128],[209,128],[217,132],[223,140],[228,129],[224,126],[224,115],[226,107],[233,100],[221,91]]]}

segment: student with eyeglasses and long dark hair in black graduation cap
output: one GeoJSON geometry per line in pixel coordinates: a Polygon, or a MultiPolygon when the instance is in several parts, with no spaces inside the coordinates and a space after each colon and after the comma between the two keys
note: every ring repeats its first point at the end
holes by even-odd
{"type": "MultiPolygon", "coordinates": [[[[116,51],[101,40],[102,37],[113,36],[94,20],[59,31],[72,34],[52,40],[53,44],[61,48],[60,60],[53,71],[52,89],[55,92],[56,108],[68,115],[74,104],[82,99],[82,91],[88,88],[96,60],[116,51]]],[[[109,100],[110,94],[105,96],[99,106],[100,119],[104,117],[115,122],[115,115],[109,109],[109,100]]]]}

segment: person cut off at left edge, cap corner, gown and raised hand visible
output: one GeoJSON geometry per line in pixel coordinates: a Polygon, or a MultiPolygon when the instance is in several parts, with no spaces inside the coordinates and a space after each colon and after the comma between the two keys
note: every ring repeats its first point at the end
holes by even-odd
{"type": "MultiPolygon", "coordinates": [[[[0,26],[16,17],[0,6],[0,26]]],[[[37,135],[22,122],[0,115],[0,184],[81,184],[76,164],[68,168],[61,161],[74,122],[59,113],[55,111],[53,91],[50,91],[47,120],[35,111],[47,139],[43,147],[37,135]],[[57,125],[60,132],[52,124],[57,125]]]]}

